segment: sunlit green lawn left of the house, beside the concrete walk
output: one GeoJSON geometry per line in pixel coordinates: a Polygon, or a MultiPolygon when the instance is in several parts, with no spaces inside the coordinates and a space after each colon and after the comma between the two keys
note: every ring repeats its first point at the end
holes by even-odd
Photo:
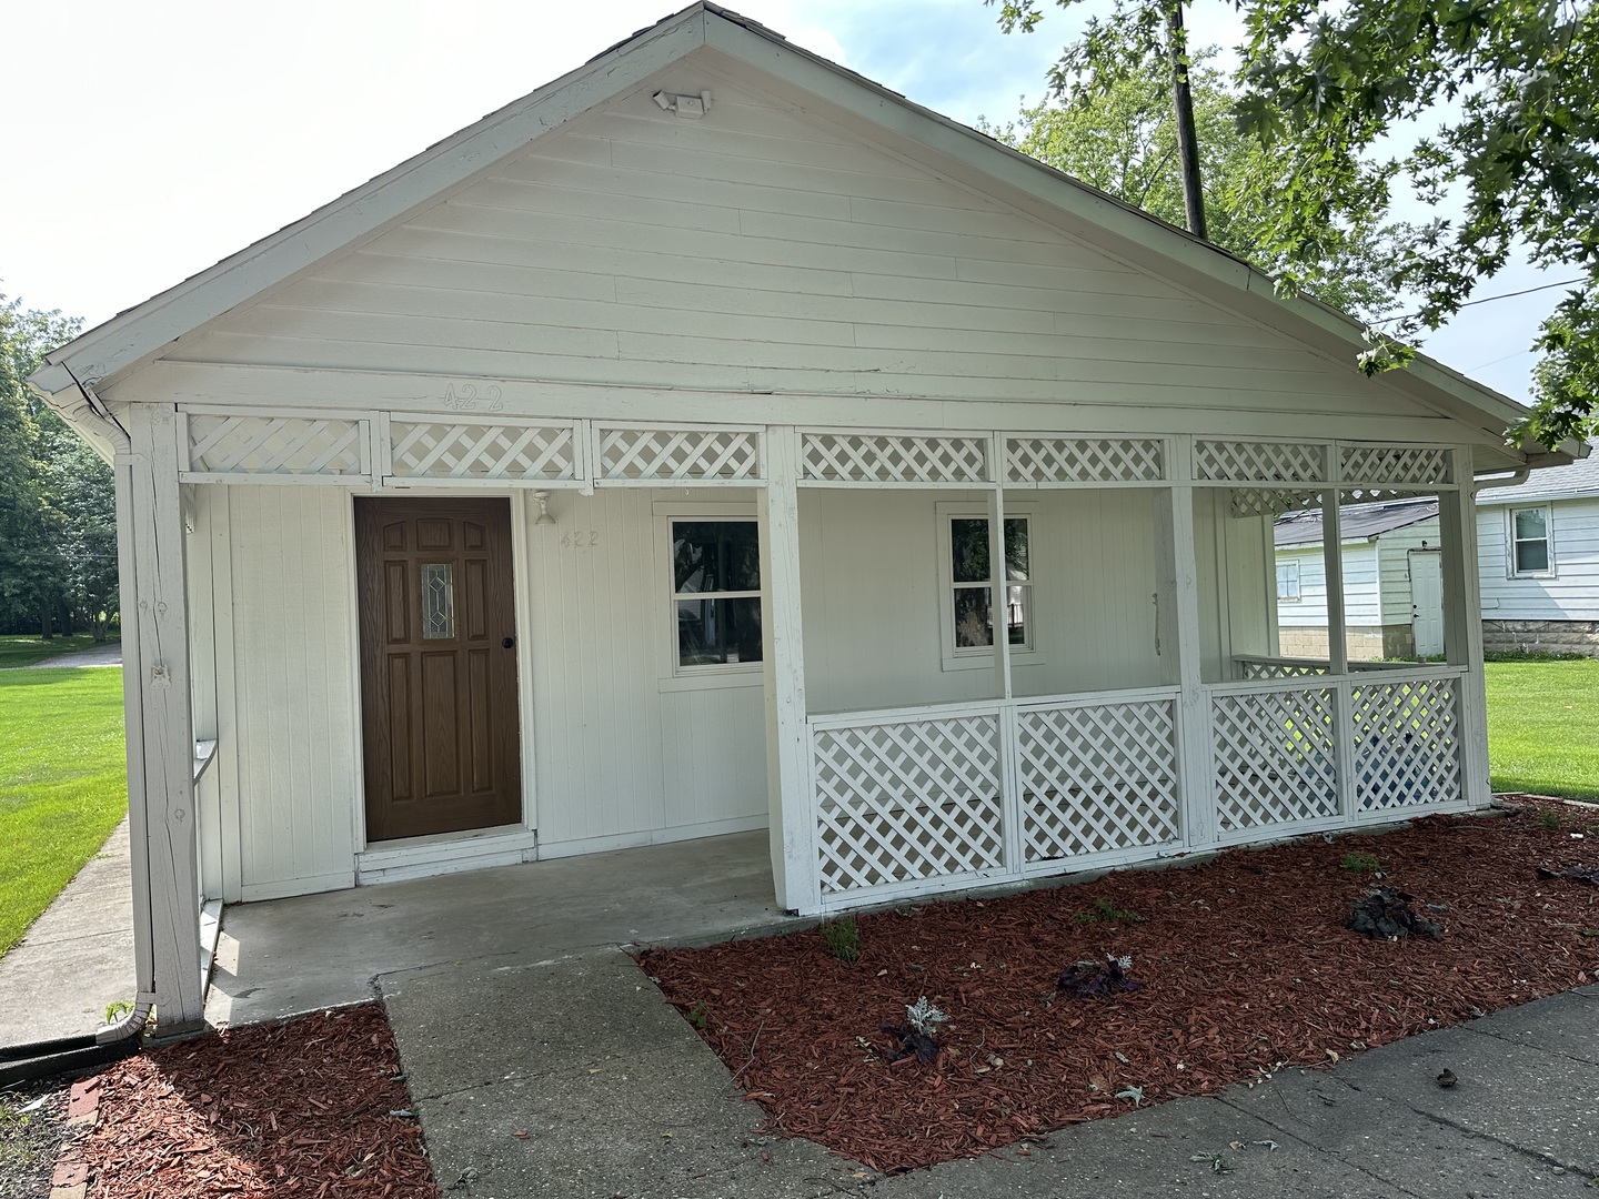
{"type": "Polygon", "coordinates": [[[0,673],[0,953],[126,811],[122,670],[0,673]]]}

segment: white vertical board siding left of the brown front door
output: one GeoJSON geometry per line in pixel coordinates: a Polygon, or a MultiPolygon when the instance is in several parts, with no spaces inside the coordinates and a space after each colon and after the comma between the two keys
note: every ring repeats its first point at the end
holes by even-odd
{"type": "Polygon", "coordinates": [[[349,497],[230,488],[229,500],[245,898],[352,886],[361,755],[349,497]]]}

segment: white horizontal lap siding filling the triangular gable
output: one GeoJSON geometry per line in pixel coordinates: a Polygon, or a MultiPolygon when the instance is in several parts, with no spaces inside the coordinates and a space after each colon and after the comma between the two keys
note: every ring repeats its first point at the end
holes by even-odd
{"type": "Polygon", "coordinates": [[[822,120],[713,80],[500,163],[169,357],[728,390],[1420,414],[822,120]]]}

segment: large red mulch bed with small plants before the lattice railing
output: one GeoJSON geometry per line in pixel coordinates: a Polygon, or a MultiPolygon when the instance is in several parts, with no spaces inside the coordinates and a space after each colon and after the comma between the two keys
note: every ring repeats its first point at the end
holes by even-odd
{"type": "Polygon", "coordinates": [[[774,1132],[879,1170],[980,1154],[1145,1103],[1204,1095],[1284,1066],[1453,1025],[1599,977],[1599,887],[1538,866],[1599,862],[1599,811],[1426,817],[1330,844],[1233,850],[1193,868],[1118,871],[1073,887],[860,916],[860,961],[815,930],[641,958],[774,1132]],[[1572,830],[1586,830],[1573,839],[1572,830]],[[1441,942],[1350,932],[1375,854],[1441,942]],[[1079,922],[1107,898],[1140,924],[1079,922]],[[1428,911],[1422,903],[1447,905],[1428,911]],[[902,914],[907,913],[907,914],[902,914]],[[1589,932],[1591,935],[1583,935],[1589,932]],[[1130,954],[1140,990],[1057,994],[1078,959],[1130,954]],[[935,1062],[889,1063],[905,1006],[950,1015],[935,1062]]]}

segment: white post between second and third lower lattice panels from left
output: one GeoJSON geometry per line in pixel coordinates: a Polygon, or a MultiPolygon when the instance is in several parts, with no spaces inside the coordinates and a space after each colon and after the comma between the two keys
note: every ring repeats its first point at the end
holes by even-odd
{"type": "Polygon", "coordinates": [[[1212,796],[1214,748],[1210,745],[1210,703],[1204,694],[1199,660],[1199,561],[1194,550],[1193,438],[1174,436],[1167,443],[1170,473],[1166,582],[1175,598],[1177,633],[1177,785],[1183,803],[1183,830],[1190,849],[1215,844],[1215,801],[1212,796]]]}

